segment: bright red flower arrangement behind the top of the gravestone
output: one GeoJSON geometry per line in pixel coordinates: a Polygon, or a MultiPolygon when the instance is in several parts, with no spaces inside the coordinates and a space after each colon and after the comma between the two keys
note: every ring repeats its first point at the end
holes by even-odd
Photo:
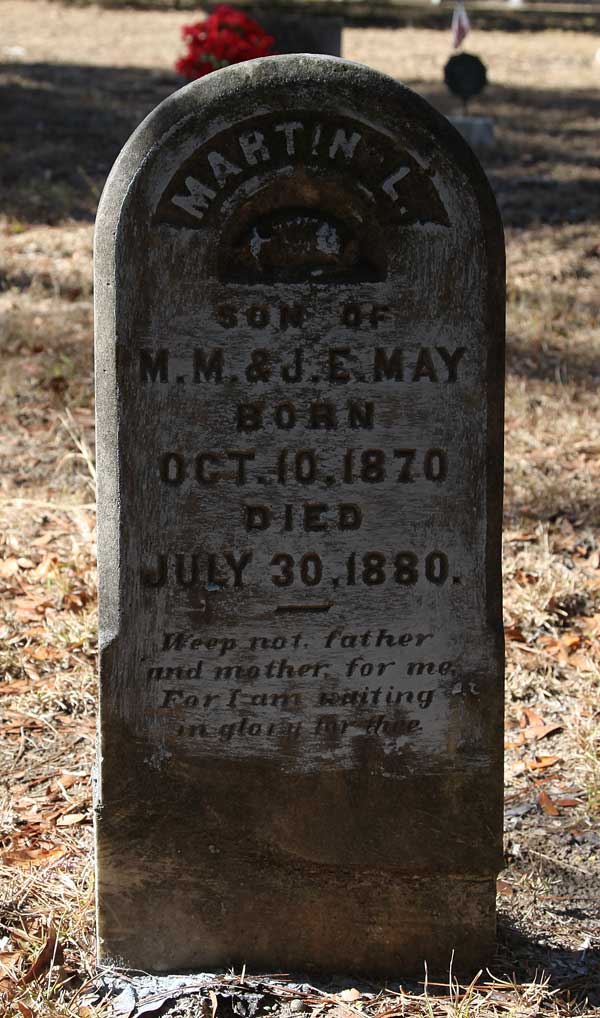
{"type": "Polygon", "coordinates": [[[187,52],[175,69],[188,81],[231,63],[269,56],[275,42],[258,21],[227,4],[219,4],[204,21],[184,24],[181,36],[187,52]]]}

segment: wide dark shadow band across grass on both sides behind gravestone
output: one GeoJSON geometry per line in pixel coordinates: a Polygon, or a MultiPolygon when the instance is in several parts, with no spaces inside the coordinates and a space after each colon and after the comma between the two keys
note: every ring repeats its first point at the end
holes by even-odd
{"type": "MultiPolygon", "coordinates": [[[[92,220],[122,145],[180,83],[134,67],[0,65],[2,211],[31,223],[92,220]]],[[[441,82],[414,87],[456,111],[441,82]]],[[[472,112],[496,121],[484,163],[507,226],[600,221],[600,91],[491,86],[472,112]]]]}

